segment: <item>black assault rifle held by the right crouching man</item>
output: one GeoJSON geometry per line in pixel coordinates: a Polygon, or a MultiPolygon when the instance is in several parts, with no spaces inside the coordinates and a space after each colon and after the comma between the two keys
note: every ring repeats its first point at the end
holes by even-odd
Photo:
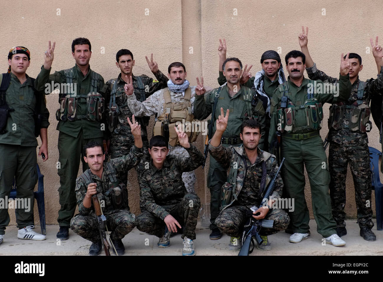
{"type": "MultiPolygon", "coordinates": [[[[273,190],[275,187],[275,181],[277,180],[278,173],[281,170],[284,161],[285,161],[285,158],[282,159],[282,162],[280,166],[278,167],[277,172],[275,173],[272,180],[270,181],[270,184],[268,185],[267,191],[265,193],[265,196],[259,208],[262,208],[262,206],[264,206],[269,201],[269,197],[273,193],[273,190]]],[[[257,211],[259,208],[257,208],[257,206],[252,206],[250,209],[252,211],[257,211]]],[[[250,224],[245,226],[245,230],[242,233],[242,248],[241,248],[241,251],[239,251],[238,256],[249,256],[251,242],[253,242],[253,245],[254,245],[254,241],[252,237],[255,237],[257,244],[259,245],[262,244],[263,239],[259,235],[259,231],[261,227],[273,228],[273,225],[274,225],[273,220],[255,219],[252,216],[250,216],[250,224]]]]}

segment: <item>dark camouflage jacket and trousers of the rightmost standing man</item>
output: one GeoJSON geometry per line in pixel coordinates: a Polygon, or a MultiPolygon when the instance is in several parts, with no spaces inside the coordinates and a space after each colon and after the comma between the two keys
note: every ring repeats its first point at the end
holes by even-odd
{"type": "MultiPolygon", "coordinates": [[[[306,68],[310,79],[321,79],[324,82],[337,83],[337,78],[327,76],[324,72],[316,68],[316,64],[311,68],[306,68]]],[[[352,84],[351,95],[345,101],[346,105],[352,105],[357,101],[359,78],[352,84]]],[[[363,102],[367,105],[370,100],[383,93],[383,70],[377,79],[369,79],[366,82],[363,102]]],[[[350,120],[347,118],[352,109],[345,109],[342,125],[347,127],[350,120]]],[[[344,222],[346,213],[344,207],[346,204],[346,176],[347,165],[350,163],[352,177],[355,187],[355,202],[357,205],[357,217],[360,228],[374,226],[372,218],[371,205],[371,171],[370,171],[370,153],[368,150],[368,138],[366,132],[351,131],[349,128],[339,130],[329,127],[330,148],[329,148],[329,171],[331,175],[330,195],[332,205],[332,216],[337,226],[345,227],[344,222]],[[368,201],[368,202],[367,202],[368,201]]]]}

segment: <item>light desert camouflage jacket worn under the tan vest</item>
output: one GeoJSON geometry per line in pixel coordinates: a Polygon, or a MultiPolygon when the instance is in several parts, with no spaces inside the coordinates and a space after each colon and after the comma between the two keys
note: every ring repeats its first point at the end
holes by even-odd
{"type": "MultiPolygon", "coordinates": [[[[190,86],[191,88],[190,104],[191,104],[192,113],[194,113],[193,104],[195,99],[195,87],[196,86],[190,86]]],[[[142,103],[137,101],[136,95],[127,96],[128,107],[131,110],[131,112],[134,114],[134,116],[137,116],[137,117],[150,117],[151,115],[157,114],[158,112],[159,112],[159,115],[161,115],[162,112],[164,111],[164,103],[165,103],[164,97],[161,97],[161,92],[162,92],[161,90],[155,92],[153,95],[151,95],[142,103]]],[[[180,102],[183,100],[182,93],[175,93],[170,90],[169,90],[169,93],[170,93],[170,98],[172,99],[172,102],[180,102]]]]}

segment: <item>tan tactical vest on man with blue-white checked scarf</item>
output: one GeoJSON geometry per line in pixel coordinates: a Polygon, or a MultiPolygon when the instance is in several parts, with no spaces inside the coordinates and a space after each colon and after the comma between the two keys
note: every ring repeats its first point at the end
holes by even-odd
{"type": "Polygon", "coordinates": [[[172,147],[179,145],[180,142],[178,142],[178,135],[174,129],[176,123],[178,124],[179,122],[181,125],[185,126],[185,133],[188,135],[189,142],[197,140],[198,134],[201,132],[201,128],[200,124],[194,122],[196,119],[194,118],[194,114],[191,113],[191,88],[188,87],[185,90],[185,96],[180,102],[172,102],[170,92],[167,87],[161,90],[160,97],[162,96],[165,100],[164,110],[161,115],[159,115],[158,111],[158,116],[153,127],[153,136],[162,135],[166,137],[169,135],[169,145],[172,147]],[[190,128],[190,130],[188,130],[188,128],[190,128]]]}

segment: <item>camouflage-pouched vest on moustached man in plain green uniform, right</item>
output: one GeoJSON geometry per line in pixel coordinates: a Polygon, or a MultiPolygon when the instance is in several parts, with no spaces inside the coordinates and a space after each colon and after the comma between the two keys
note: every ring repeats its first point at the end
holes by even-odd
{"type": "MultiPolygon", "coordinates": [[[[314,85],[312,80],[310,80],[310,82],[314,85]]],[[[278,131],[283,133],[296,133],[301,130],[314,131],[321,129],[323,109],[322,103],[318,103],[317,99],[314,98],[314,87],[307,87],[307,100],[300,106],[295,106],[295,104],[288,99],[289,89],[287,81],[280,84],[278,89],[282,93],[281,102],[277,109],[278,131]],[[298,110],[304,111],[304,117],[306,120],[306,125],[300,127],[296,127],[295,125],[295,116],[298,110]]]]}

